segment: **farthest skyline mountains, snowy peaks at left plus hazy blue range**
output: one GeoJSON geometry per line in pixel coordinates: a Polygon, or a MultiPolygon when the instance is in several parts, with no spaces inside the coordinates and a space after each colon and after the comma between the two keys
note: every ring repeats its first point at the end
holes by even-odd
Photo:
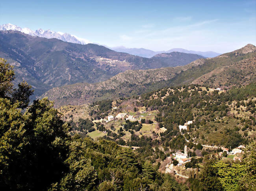
{"type": "MultiPolygon", "coordinates": [[[[37,29],[36,31],[32,31],[29,28],[21,28],[17,25],[13,24],[4,24],[0,26],[0,30],[2,31],[20,31],[22,33],[25,33],[27,35],[31,36],[39,36],[39,37],[44,37],[44,38],[57,38],[59,40],[65,41],[65,42],[72,42],[76,44],[88,44],[90,43],[89,40],[84,39],[84,38],[79,38],[75,35],[70,35],[68,33],[62,33],[62,32],[54,32],[50,31],[49,29],[44,31],[43,29],[37,29]]],[[[100,44],[98,44],[100,45],[100,44]]],[[[215,53],[212,51],[206,51],[206,52],[201,52],[201,51],[188,51],[186,49],[181,49],[181,48],[174,48],[170,49],[168,51],[152,51],[144,48],[126,48],[124,46],[119,46],[119,47],[108,47],[104,45],[105,47],[112,49],[117,52],[123,52],[123,53],[128,53],[130,55],[136,55],[136,56],[141,56],[145,58],[151,58],[152,56],[155,56],[160,53],[171,53],[171,52],[181,52],[181,53],[190,53],[190,54],[197,54],[201,55],[204,57],[215,57],[221,55],[220,53],[215,53]]]]}

